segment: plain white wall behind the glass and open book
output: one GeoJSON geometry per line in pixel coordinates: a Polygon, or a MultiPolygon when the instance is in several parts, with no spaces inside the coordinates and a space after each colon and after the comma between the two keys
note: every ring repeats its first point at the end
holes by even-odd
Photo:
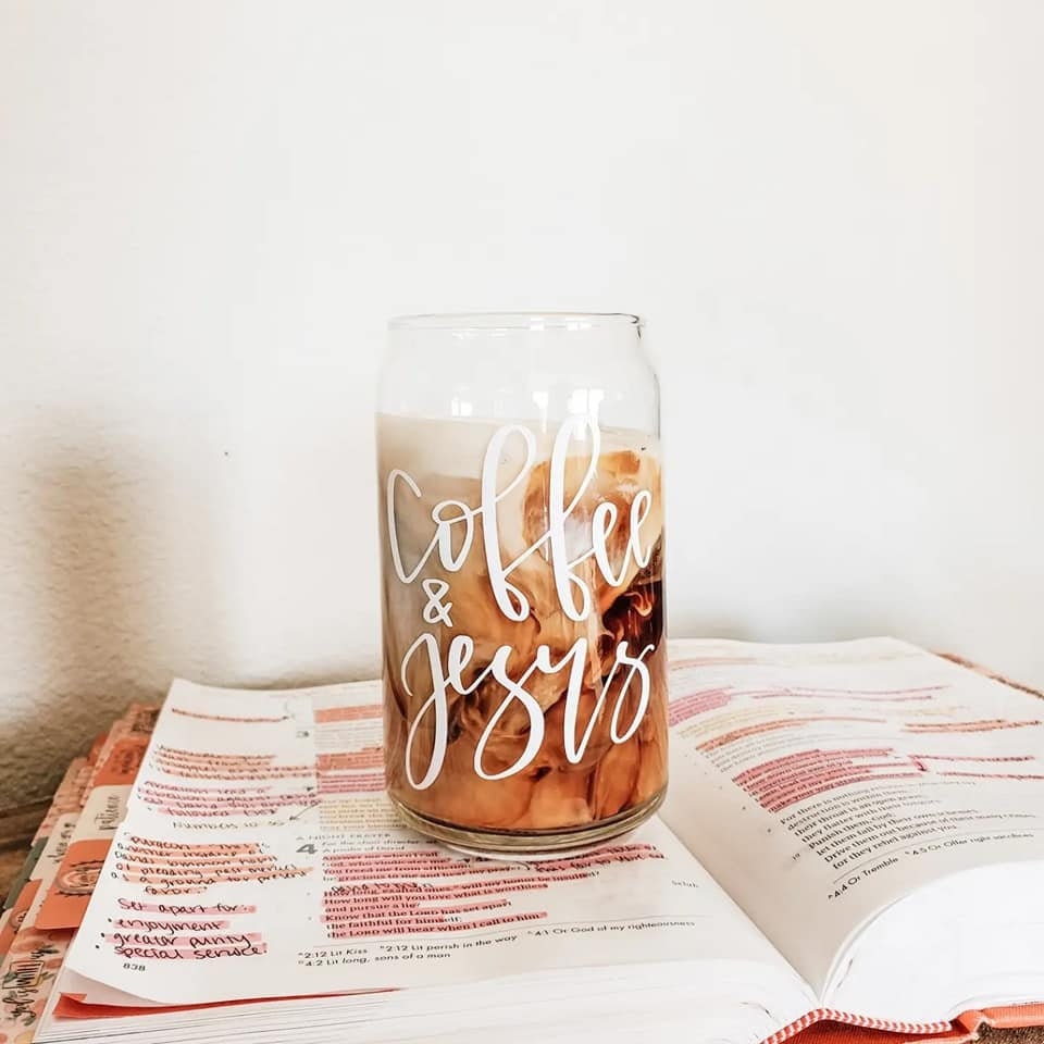
{"type": "Polygon", "coordinates": [[[0,7],[0,807],[376,666],[387,315],[636,310],[682,634],[1044,683],[1044,7],[0,7]]]}

